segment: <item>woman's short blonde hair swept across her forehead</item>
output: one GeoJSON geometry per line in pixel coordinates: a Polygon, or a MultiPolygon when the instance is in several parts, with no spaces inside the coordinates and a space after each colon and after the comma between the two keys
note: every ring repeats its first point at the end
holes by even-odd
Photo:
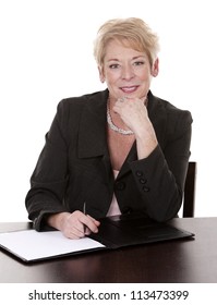
{"type": "Polygon", "coordinates": [[[158,36],[143,20],[136,17],[114,19],[107,21],[99,27],[95,40],[94,56],[99,66],[104,64],[107,44],[113,39],[136,51],[145,52],[150,66],[157,58],[158,36]]]}

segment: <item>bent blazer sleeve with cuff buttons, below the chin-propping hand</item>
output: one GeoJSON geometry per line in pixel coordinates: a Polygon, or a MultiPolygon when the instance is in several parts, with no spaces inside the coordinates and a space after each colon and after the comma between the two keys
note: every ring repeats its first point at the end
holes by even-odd
{"type": "Polygon", "coordinates": [[[192,115],[178,110],[168,114],[166,141],[145,159],[131,163],[134,181],[147,215],[157,221],[177,216],[190,158],[192,115]]]}

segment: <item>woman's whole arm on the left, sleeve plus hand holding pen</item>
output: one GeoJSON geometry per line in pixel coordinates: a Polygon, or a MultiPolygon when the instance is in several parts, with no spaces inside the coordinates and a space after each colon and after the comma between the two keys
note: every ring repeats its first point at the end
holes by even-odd
{"type": "MultiPolygon", "coordinates": [[[[97,232],[99,223],[79,211],[77,207],[73,212],[69,212],[64,204],[69,183],[69,113],[68,103],[60,102],[50,131],[46,135],[45,147],[31,178],[26,208],[37,231],[50,225],[62,231],[67,237],[74,239],[89,232],[97,232]],[[88,230],[85,231],[84,227],[88,230]]],[[[77,125],[77,122],[74,122],[74,134],[76,134],[77,125]]]]}

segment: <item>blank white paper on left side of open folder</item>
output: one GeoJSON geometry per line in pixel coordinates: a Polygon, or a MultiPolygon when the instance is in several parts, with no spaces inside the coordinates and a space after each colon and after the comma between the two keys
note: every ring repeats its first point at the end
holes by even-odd
{"type": "Polygon", "coordinates": [[[89,237],[70,240],[60,231],[35,230],[0,233],[0,245],[27,261],[105,247],[89,237]]]}

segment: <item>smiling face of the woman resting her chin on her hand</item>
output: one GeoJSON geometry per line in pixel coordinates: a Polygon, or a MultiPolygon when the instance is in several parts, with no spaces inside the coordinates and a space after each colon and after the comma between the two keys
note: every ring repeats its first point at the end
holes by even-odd
{"type": "Polygon", "coordinates": [[[158,60],[150,66],[145,52],[125,47],[117,40],[107,45],[99,75],[101,82],[107,83],[110,99],[146,97],[152,77],[157,74],[158,60]]]}

